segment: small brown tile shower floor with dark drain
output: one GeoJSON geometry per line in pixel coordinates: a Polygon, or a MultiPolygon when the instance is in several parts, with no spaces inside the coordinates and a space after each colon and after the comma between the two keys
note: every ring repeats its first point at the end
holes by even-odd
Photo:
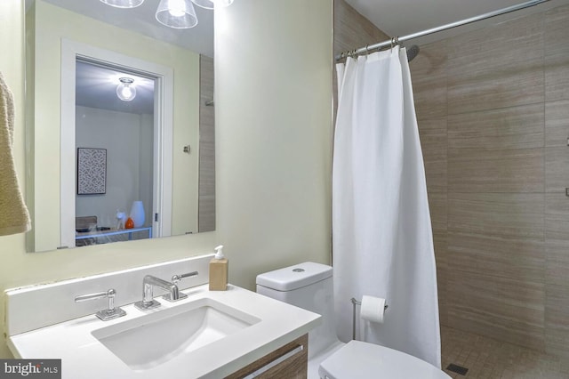
{"type": "Polygon", "coordinates": [[[567,379],[569,359],[554,357],[512,343],[441,327],[443,368],[466,367],[466,375],[446,370],[452,378],[567,379]]]}

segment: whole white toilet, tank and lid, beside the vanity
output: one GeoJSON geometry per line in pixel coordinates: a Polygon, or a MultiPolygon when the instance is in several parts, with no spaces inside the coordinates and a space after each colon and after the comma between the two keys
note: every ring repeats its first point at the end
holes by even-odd
{"type": "Polygon", "coordinates": [[[330,266],[304,262],[260,274],[257,293],[322,315],[322,324],[309,333],[309,379],[450,378],[437,367],[402,351],[360,341],[341,343],[334,325],[330,266]]]}

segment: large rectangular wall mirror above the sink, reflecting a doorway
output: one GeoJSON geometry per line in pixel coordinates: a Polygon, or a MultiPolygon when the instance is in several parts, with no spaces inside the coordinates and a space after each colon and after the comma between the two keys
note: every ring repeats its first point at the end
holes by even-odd
{"type": "Polygon", "coordinates": [[[29,252],[215,229],[213,11],[159,3],[27,0],[29,252]]]}

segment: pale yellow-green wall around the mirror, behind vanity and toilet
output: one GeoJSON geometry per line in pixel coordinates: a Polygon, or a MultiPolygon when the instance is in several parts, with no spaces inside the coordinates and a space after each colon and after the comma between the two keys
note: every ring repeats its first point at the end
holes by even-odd
{"type": "MultiPolygon", "coordinates": [[[[231,281],[250,289],[254,289],[255,275],[263,270],[304,260],[329,261],[332,2],[305,4],[296,0],[283,5],[265,0],[254,10],[250,9],[252,3],[240,0],[228,8],[229,12],[235,6],[243,29],[236,32],[241,38],[240,48],[228,48],[225,56],[239,55],[244,61],[216,68],[216,81],[230,88],[216,88],[216,93],[220,92],[217,127],[223,148],[219,166],[225,167],[217,174],[221,183],[220,231],[40,254],[26,253],[22,234],[0,237],[0,290],[209,253],[217,243],[227,246],[231,281]],[[244,8],[257,16],[244,14],[244,8]],[[265,24],[272,17],[278,17],[278,22],[265,24]],[[252,38],[254,48],[244,44],[243,38],[252,38]],[[284,50],[276,44],[263,47],[269,39],[284,41],[287,46],[284,50]],[[241,57],[242,52],[247,56],[241,57]],[[262,67],[252,52],[264,54],[262,67]],[[302,64],[304,69],[289,67],[283,52],[294,53],[291,64],[302,64]],[[266,86],[248,84],[252,69],[257,71],[255,80],[265,79],[266,86]],[[231,101],[238,102],[230,105],[231,101]],[[228,109],[221,106],[226,103],[228,109]],[[244,106],[243,111],[236,108],[237,104],[244,106]],[[257,115],[251,117],[253,110],[257,115]]],[[[20,0],[0,2],[0,46],[6,52],[0,54],[0,70],[16,97],[14,149],[18,173],[23,178],[26,166],[20,0]]],[[[9,357],[4,341],[4,294],[0,296],[0,357],[9,357]]]]}

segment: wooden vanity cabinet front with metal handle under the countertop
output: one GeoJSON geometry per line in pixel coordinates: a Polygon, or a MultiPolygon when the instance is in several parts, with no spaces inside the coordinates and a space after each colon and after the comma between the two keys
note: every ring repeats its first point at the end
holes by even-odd
{"type": "Polygon", "coordinates": [[[306,379],[308,363],[309,335],[302,335],[225,379],[306,379]]]}

